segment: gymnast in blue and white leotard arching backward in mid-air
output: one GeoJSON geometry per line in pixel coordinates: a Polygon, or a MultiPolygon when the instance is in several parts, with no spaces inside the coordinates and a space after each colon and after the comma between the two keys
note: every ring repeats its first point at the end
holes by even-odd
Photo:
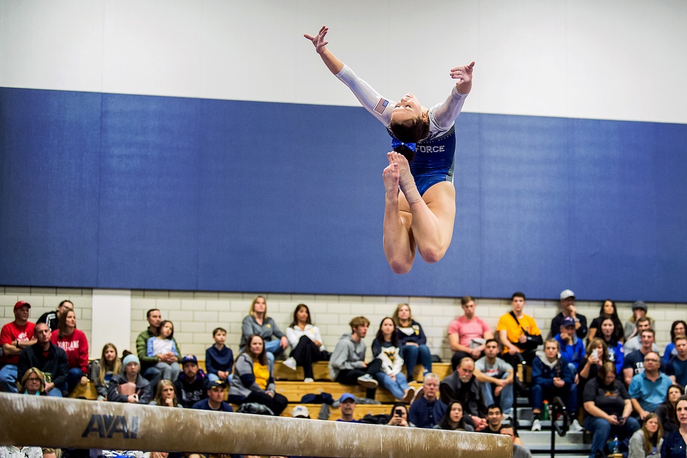
{"type": "Polygon", "coordinates": [[[323,25],[317,35],[304,36],[315,45],[330,72],[353,91],[361,105],[392,135],[394,151],[387,153],[389,165],[382,173],[386,190],[383,244],[387,261],[396,274],[405,274],[413,266],[417,248],[427,263],[436,263],[444,257],[453,235],[454,122],[472,87],[475,63],[451,69],[451,78],[458,81],[449,97],[430,109],[420,105],[413,94],[392,102],[328,50],[328,30],[323,25]]]}

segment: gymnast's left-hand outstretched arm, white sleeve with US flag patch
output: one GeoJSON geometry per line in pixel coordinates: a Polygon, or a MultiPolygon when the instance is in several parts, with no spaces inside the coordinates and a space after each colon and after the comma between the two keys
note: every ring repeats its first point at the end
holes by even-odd
{"type": "Polygon", "coordinates": [[[377,91],[372,89],[368,83],[358,78],[356,74],[345,65],[327,48],[326,34],[329,28],[323,25],[316,36],[304,34],[306,39],[310,40],[317,50],[317,54],[322,57],[324,65],[327,66],[330,72],[335,74],[339,80],[350,89],[355,97],[360,102],[360,105],[377,118],[385,127],[389,127],[391,123],[391,113],[394,110],[396,102],[387,100],[379,95],[377,91]]]}

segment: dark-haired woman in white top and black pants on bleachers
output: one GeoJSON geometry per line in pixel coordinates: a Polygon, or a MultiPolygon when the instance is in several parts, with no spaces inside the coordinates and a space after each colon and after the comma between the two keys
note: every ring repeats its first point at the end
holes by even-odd
{"type": "Polygon", "coordinates": [[[313,325],[310,309],[305,304],[298,304],[293,311],[291,325],[286,328],[286,340],[291,345],[291,355],[284,365],[295,371],[303,367],[304,382],[313,382],[313,362],[322,360],[322,334],[319,327],[313,325]]]}

